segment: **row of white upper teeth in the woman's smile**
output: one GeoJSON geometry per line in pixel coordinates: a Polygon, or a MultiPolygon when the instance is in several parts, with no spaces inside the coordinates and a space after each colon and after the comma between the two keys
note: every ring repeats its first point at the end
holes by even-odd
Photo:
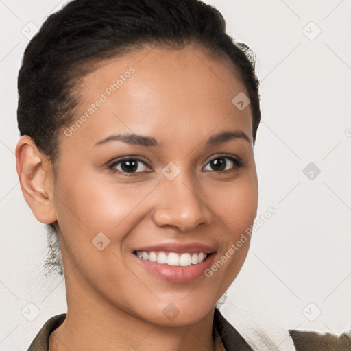
{"type": "Polygon", "coordinates": [[[143,258],[144,260],[161,263],[162,265],[170,265],[170,266],[190,266],[197,265],[197,263],[201,263],[206,258],[207,254],[204,252],[199,252],[199,254],[176,254],[175,252],[169,252],[169,254],[165,254],[165,252],[136,252],[136,256],[138,258],[143,258]]]}

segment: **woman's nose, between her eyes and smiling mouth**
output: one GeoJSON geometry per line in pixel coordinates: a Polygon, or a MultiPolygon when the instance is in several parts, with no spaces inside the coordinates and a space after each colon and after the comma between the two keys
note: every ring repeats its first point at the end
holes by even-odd
{"type": "Polygon", "coordinates": [[[174,180],[162,180],[158,186],[160,200],[152,214],[157,226],[186,232],[212,220],[211,211],[201,198],[199,186],[184,180],[178,175],[174,180]]]}

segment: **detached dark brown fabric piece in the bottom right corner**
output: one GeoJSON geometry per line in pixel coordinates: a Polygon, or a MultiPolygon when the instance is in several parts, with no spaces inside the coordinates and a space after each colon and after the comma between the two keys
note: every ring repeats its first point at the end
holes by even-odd
{"type": "Polygon", "coordinates": [[[351,351],[351,330],[341,335],[329,332],[289,330],[297,351],[351,351]]]}

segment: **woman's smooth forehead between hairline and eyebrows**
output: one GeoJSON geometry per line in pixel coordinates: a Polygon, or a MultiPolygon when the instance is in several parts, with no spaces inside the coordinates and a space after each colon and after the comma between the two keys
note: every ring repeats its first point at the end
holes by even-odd
{"type": "Polygon", "coordinates": [[[112,132],[165,141],[177,133],[186,142],[220,127],[251,138],[250,106],[239,110],[232,102],[238,94],[248,95],[229,58],[194,47],[138,49],[100,62],[83,78],[70,143],[92,144],[112,132]]]}

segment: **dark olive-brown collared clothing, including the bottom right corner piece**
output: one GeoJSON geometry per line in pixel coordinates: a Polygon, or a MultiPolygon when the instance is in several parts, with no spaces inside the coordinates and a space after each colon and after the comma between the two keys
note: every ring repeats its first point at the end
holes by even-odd
{"type": "MultiPolygon", "coordinates": [[[[48,319],[27,351],[48,351],[51,332],[58,328],[65,318],[66,313],[62,313],[48,319]]],[[[221,338],[226,351],[253,351],[245,339],[221,315],[217,308],[215,309],[213,328],[214,332],[217,332],[221,338]]],[[[300,330],[289,330],[289,334],[293,339],[296,351],[351,351],[351,332],[344,333],[339,337],[330,333],[321,335],[317,332],[300,330]]],[[[276,348],[274,351],[276,351],[276,348]]]]}

